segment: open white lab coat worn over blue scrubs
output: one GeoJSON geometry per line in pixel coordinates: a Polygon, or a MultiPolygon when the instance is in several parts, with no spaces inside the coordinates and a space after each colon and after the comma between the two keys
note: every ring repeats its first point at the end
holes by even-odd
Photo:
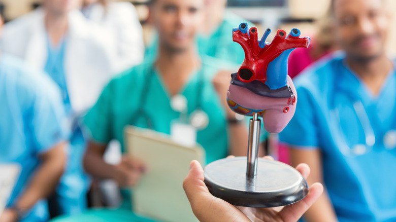
{"type": "MultiPolygon", "coordinates": [[[[44,70],[47,52],[45,13],[37,9],[7,23],[0,49],[44,70]]],[[[81,114],[92,106],[116,67],[115,42],[106,31],[90,24],[80,11],[69,14],[69,30],[64,55],[64,71],[72,108],[81,114]]]]}

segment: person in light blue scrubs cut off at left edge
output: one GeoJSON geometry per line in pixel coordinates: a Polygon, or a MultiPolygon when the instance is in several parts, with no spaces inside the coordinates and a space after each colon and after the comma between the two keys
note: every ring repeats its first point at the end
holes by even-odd
{"type": "Polygon", "coordinates": [[[0,104],[0,163],[21,167],[0,221],[46,221],[44,199],[63,172],[69,137],[59,89],[45,73],[1,52],[0,104]]]}

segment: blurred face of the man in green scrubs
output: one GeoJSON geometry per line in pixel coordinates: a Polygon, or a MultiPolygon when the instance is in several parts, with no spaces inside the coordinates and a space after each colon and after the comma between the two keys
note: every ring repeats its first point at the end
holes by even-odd
{"type": "Polygon", "coordinates": [[[158,30],[161,46],[176,52],[192,47],[203,22],[203,6],[203,0],[156,0],[150,19],[158,30]]]}

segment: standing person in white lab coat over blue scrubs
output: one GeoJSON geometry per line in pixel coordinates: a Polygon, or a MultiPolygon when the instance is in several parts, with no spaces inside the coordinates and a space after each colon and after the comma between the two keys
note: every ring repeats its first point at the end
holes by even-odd
{"type": "Polygon", "coordinates": [[[79,213],[89,181],[82,168],[85,138],[79,117],[97,99],[113,73],[111,36],[77,9],[80,0],[44,0],[43,7],[7,23],[0,48],[47,72],[60,87],[72,135],[69,161],[51,200],[51,212],[79,213]]]}

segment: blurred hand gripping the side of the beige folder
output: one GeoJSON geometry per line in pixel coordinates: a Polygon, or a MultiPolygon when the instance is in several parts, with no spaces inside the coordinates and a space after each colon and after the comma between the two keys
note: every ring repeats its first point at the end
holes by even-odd
{"type": "Polygon", "coordinates": [[[124,156],[121,162],[115,166],[113,179],[118,182],[120,187],[134,187],[146,171],[147,167],[142,161],[124,156]]]}

